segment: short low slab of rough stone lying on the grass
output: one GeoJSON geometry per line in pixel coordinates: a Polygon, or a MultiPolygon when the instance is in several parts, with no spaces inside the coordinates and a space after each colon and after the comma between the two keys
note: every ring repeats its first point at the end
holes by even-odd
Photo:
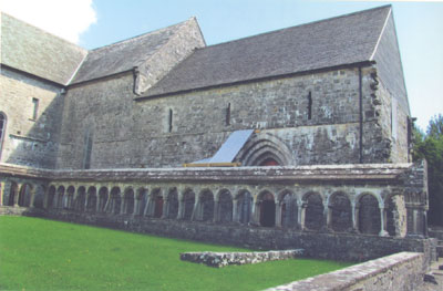
{"type": "Polygon", "coordinates": [[[184,252],[181,253],[181,260],[220,268],[229,264],[247,264],[295,259],[302,253],[302,249],[253,252],[184,252]]]}

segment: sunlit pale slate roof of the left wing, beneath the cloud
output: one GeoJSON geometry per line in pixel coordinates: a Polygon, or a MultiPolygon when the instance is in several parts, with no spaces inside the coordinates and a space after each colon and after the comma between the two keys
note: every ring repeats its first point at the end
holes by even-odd
{"type": "Polygon", "coordinates": [[[4,65],[66,85],[86,53],[73,43],[1,13],[4,65]]]}

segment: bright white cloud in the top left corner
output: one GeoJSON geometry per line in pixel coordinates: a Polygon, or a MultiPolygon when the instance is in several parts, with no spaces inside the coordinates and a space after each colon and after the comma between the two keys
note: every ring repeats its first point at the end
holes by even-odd
{"type": "Polygon", "coordinates": [[[1,10],[74,43],[96,22],[92,0],[1,0],[1,10]]]}

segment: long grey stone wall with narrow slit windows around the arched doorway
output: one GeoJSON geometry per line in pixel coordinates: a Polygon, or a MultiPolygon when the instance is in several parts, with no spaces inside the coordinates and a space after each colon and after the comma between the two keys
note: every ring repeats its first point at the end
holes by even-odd
{"type": "Polygon", "coordinates": [[[383,132],[389,124],[374,105],[374,70],[362,69],[361,150],[358,69],[138,101],[127,73],[69,89],[58,167],[82,168],[87,131],[92,168],[181,166],[210,157],[230,133],[246,128],[260,129],[258,139],[277,139],[290,153],[288,165],[357,164],[360,152],[363,163],[408,162],[383,132]]]}

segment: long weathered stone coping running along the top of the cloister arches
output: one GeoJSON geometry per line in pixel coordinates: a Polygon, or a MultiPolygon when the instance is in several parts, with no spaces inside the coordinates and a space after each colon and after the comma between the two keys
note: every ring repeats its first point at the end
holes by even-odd
{"type": "Polygon", "coordinates": [[[144,181],[316,181],[392,180],[413,164],[356,164],[277,167],[122,168],[51,170],[0,164],[0,174],[50,180],[144,180],[144,181]]]}

